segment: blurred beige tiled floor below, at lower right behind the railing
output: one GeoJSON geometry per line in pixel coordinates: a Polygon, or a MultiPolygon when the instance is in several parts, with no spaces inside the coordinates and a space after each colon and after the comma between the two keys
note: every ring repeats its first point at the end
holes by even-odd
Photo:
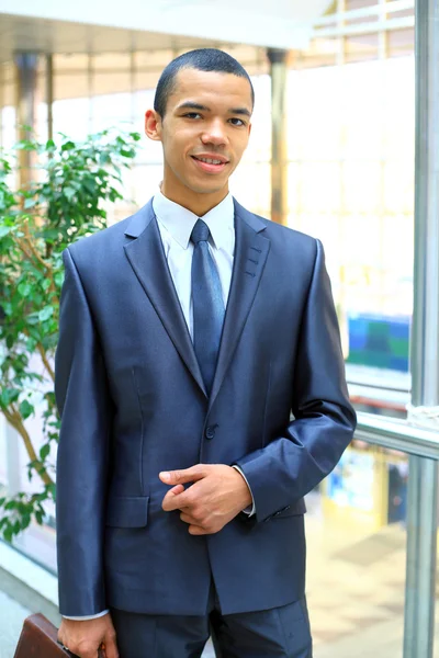
{"type": "MultiPolygon", "coordinates": [[[[405,542],[398,524],[361,537],[358,531],[325,525],[309,515],[307,599],[314,658],[402,658],[405,542]]],[[[437,583],[439,598],[439,578],[437,583]]],[[[438,610],[436,619],[438,642],[438,610]]]]}

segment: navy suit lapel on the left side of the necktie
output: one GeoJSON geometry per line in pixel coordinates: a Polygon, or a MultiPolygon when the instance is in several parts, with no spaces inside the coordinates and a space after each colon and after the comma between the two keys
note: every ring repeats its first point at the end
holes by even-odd
{"type": "Polygon", "coordinates": [[[135,275],[149,297],[178,353],[206,396],[188,325],[166,262],[151,201],[131,218],[125,235],[136,238],[124,246],[135,275]]]}

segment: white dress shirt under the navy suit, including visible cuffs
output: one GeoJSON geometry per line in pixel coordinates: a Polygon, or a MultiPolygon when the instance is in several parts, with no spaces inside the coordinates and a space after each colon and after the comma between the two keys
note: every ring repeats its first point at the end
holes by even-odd
{"type": "MultiPolygon", "coordinates": [[[[157,218],[166,260],[177,296],[180,300],[189,332],[193,339],[193,305],[191,294],[193,243],[191,242],[191,234],[199,217],[191,213],[191,211],[167,198],[161,192],[158,192],[154,196],[153,209],[157,218]]],[[[224,307],[226,307],[235,256],[235,207],[232,194],[228,193],[217,206],[203,215],[201,219],[206,223],[211,231],[209,250],[219,274],[224,307]]],[[[234,466],[234,468],[241,474],[249,487],[241,469],[238,466],[234,466]]],[[[247,508],[245,512],[250,517],[255,514],[255,500],[252,501],[252,507],[247,508]]],[[[68,620],[85,621],[97,619],[108,612],[108,610],[104,610],[90,616],[64,616],[68,620]]]]}

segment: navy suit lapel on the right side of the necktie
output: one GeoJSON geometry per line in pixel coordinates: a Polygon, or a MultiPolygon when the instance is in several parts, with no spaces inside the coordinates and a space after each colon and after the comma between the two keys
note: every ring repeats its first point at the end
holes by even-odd
{"type": "Polygon", "coordinates": [[[243,333],[263,272],[270,250],[270,240],[262,235],[264,229],[266,225],[256,215],[246,211],[235,201],[234,268],[210,409],[215,401],[243,333]]]}

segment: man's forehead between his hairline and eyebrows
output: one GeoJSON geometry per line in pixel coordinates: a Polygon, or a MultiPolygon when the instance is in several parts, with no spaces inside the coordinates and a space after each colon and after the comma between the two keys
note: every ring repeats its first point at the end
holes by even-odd
{"type": "Polygon", "coordinates": [[[244,106],[252,110],[250,84],[246,78],[218,71],[182,69],[177,73],[176,88],[170,94],[168,106],[175,107],[184,101],[200,104],[215,103],[228,107],[244,106]]]}

